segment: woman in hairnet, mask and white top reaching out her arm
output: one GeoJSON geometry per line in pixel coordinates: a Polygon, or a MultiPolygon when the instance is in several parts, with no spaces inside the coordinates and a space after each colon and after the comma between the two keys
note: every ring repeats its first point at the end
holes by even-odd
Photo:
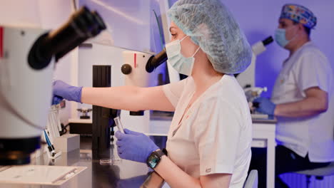
{"type": "Polygon", "coordinates": [[[171,187],[243,187],[251,160],[251,115],[233,74],[251,63],[251,48],[219,0],[180,0],[168,16],[168,63],[188,78],[153,88],[79,88],[58,80],[54,94],[107,108],[175,111],[168,157],[131,130],[116,132],[118,155],[147,162],[171,187]]]}

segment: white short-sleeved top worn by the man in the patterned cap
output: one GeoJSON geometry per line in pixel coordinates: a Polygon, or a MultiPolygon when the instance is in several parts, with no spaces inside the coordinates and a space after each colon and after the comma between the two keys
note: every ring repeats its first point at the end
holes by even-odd
{"type": "Polygon", "coordinates": [[[328,110],[313,117],[278,117],[278,144],[298,155],[308,154],[311,162],[334,161],[333,70],[325,55],[312,43],[305,43],[285,60],[273,88],[275,104],[305,98],[305,90],[319,87],[328,93],[328,110]]]}

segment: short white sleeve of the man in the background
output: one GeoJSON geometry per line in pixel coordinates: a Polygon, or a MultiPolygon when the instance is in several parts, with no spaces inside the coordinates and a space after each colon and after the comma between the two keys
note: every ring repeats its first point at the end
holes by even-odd
{"type": "Polygon", "coordinates": [[[307,90],[312,87],[319,87],[325,92],[330,90],[330,80],[332,80],[330,76],[333,73],[325,56],[307,52],[303,54],[294,71],[300,90],[307,90]]]}

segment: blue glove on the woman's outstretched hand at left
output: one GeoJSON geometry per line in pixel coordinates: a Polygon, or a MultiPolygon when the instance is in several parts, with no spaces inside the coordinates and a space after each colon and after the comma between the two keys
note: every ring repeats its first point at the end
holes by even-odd
{"type": "Polygon", "coordinates": [[[54,97],[81,103],[82,87],[69,85],[64,83],[62,80],[55,80],[52,88],[54,89],[54,97]]]}

